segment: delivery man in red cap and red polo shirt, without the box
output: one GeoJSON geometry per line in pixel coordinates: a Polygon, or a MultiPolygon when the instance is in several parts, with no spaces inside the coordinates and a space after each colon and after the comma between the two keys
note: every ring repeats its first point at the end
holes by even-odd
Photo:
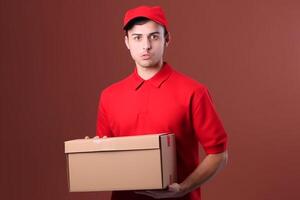
{"type": "Polygon", "coordinates": [[[227,134],[209,91],[164,62],[170,33],[160,7],[128,10],[123,28],[135,68],[101,92],[97,136],[174,133],[178,181],[167,190],[114,191],[111,198],[200,200],[200,186],[227,162],[227,134]],[[199,144],[206,152],[201,162],[199,144]]]}

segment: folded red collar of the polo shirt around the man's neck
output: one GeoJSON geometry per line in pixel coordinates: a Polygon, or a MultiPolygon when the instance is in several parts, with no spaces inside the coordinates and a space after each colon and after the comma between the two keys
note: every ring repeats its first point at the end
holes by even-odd
{"type": "Polygon", "coordinates": [[[169,78],[172,71],[172,67],[168,63],[164,62],[162,68],[153,77],[148,80],[144,80],[139,76],[137,68],[135,68],[131,75],[133,89],[138,90],[144,82],[149,82],[155,87],[159,88],[169,78]]]}

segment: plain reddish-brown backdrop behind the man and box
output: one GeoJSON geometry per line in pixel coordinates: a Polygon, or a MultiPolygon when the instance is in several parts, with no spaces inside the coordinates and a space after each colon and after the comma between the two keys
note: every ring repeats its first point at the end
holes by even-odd
{"type": "Polygon", "coordinates": [[[140,4],[164,8],[166,60],[209,87],[230,137],[204,199],[300,199],[297,0],[1,1],[0,198],[107,199],[68,192],[63,142],[95,134],[99,92],[133,70],[121,26],[140,4]]]}

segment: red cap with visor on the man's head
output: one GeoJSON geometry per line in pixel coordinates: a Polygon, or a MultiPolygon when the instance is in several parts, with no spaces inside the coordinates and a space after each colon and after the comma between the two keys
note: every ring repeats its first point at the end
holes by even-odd
{"type": "Polygon", "coordinates": [[[125,28],[129,21],[137,17],[146,17],[152,21],[155,21],[156,23],[163,25],[168,30],[167,19],[165,17],[164,11],[159,6],[139,6],[128,10],[124,16],[123,28],[125,28]]]}

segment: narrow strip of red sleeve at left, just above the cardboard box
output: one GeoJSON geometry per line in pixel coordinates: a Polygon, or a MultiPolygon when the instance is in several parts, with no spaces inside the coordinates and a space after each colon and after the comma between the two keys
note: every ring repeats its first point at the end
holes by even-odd
{"type": "Polygon", "coordinates": [[[103,93],[101,93],[98,103],[98,116],[96,123],[96,135],[99,137],[112,137],[108,114],[105,108],[105,100],[103,93]]]}

